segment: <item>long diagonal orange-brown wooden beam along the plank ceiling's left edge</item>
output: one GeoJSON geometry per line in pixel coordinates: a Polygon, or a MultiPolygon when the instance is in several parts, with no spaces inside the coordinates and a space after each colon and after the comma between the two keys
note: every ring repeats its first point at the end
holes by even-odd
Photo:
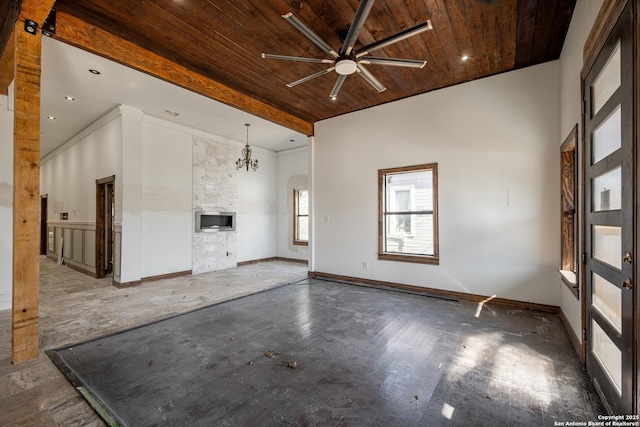
{"type": "Polygon", "coordinates": [[[56,15],[55,38],[270,122],[305,135],[313,135],[312,122],[193,72],[61,11],[56,15]]]}

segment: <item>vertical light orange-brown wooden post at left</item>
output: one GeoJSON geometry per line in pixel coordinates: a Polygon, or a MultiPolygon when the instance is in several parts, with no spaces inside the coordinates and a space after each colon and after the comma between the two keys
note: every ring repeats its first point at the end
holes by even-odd
{"type": "Polygon", "coordinates": [[[14,29],[12,360],[36,358],[39,319],[40,56],[42,35],[14,29]]]}

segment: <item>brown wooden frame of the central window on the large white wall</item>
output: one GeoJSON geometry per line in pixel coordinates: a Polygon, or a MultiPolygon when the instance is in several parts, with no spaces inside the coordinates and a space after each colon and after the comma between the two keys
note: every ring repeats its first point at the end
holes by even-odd
{"type": "MultiPolygon", "coordinates": [[[[413,208],[413,206],[412,206],[413,208]]],[[[419,211],[409,211],[409,214],[416,214],[419,211]]],[[[393,235],[391,233],[390,235],[393,235]]],[[[415,236],[413,225],[410,234],[407,236],[415,236]]],[[[418,264],[438,265],[440,263],[439,252],[439,233],[438,233],[438,164],[427,163],[415,166],[403,166],[397,168],[379,169],[378,170],[378,259],[386,261],[412,262],[418,264]],[[406,172],[430,171],[432,173],[433,182],[433,255],[403,254],[398,252],[386,252],[385,236],[386,236],[386,178],[389,175],[401,174],[406,172]]]]}

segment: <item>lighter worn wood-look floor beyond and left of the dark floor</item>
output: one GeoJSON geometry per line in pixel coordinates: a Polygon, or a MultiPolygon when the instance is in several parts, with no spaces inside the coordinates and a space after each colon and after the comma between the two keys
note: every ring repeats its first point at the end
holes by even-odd
{"type": "Polygon", "coordinates": [[[117,289],[40,258],[38,359],[11,364],[11,312],[0,311],[0,426],[103,426],[45,350],[86,341],[307,276],[291,262],[148,282],[117,289]]]}

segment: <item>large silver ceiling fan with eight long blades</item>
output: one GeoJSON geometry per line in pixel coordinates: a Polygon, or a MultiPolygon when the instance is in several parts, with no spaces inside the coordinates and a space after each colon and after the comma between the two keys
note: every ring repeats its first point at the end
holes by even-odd
{"type": "Polygon", "coordinates": [[[282,59],[285,61],[301,61],[301,62],[316,62],[322,64],[331,64],[331,67],[319,71],[310,76],[304,77],[300,80],[297,80],[293,83],[287,84],[288,87],[293,87],[299,85],[300,83],[308,82],[311,79],[315,79],[316,77],[323,76],[332,71],[338,73],[338,80],[336,80],[329,97],[331,99],[336,99],[338,96],[338,92],[342,87],[345,79],[348,75],[351,75],[355,72],[360,74],[371,86],[373,86],[378,92],[384,91],[386,88],[384,85],[375,78],[369,70],[365,68],[365,65],[369,64],[378,64],[378,65],[392,65],[396,67],[410,67],[410,68],[423,68],[427,61],[422,61],[418,59],[400,59],[400,58],[382,58],[375,56],[368,56],[369,52],[374,51],[376,49],[382,49],[383,47],[389,46],[393,43],[397,43],[401,40],[405,40],[409,37],[420,34],[424,31],[431,30],[433,27],[431,26],[431,21],[427,20],[422,24],[416,25],[415,27],[406,29],[401,31],[393,36],[389,36],[380,41],[371,43],[367,46],[364,46],[362,49],[353,50],[356,41],[358,40],[358,35],[364,26],[364,22],[369,16],[369,12],[373,7],[373,3],[375,0],[361,0],[358,5],[358,10],[356,10],[355,17],[353,18],[353,22],[349,27],[349,31],[347,35],[344,37],[344,41],[342,43],[342,47],[337,52],[320,36],[314,33],[309,27],[307,27],[302,21],[293,16],[292,13],[287,13],[286,15],[282,15],[284,19],[289,21],[291,25],[293,25],[298,31],[300,31],[305,37],[311,40],[316,46],[318,46],[322,51],[324,51],[327,55],[329,55],[330,59],[321,59],[321,58],[305,58],[300,56],[287,56],[287,55],[274,55],[269,53],[263,53],[262,57],[267,59],[282,59]]]}

